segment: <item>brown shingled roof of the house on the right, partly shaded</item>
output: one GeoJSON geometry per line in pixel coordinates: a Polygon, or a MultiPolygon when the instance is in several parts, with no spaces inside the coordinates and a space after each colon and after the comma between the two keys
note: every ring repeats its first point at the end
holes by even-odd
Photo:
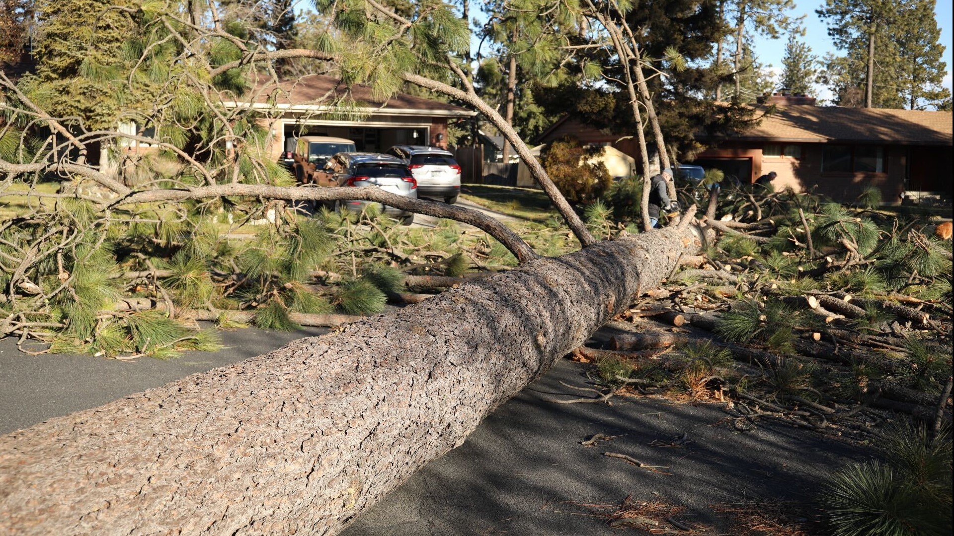
{"type": "Polygon", "coordinates": [[[777,106],[736,140],[854,141],[898,145],[951,145],[951,113],[882,108],[777,106]]]}

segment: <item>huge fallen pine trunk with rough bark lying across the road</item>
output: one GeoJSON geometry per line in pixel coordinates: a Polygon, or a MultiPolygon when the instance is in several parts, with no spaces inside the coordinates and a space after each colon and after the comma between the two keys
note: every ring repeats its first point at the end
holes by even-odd
{"type": "Polygon", "coordinates": [[[698,246],[680,227],[538,258],[13,432],[0,532],[336,534],[698,246]]]}

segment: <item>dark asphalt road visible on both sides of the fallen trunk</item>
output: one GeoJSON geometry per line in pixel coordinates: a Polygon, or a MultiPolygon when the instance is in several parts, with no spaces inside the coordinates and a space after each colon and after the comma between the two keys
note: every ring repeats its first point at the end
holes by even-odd
{"type": "MultiPolygon", "coordinates": [[[[255,328],[225,333],[228,349],[178,360],[110,361],[88,356],[28,356],[0,340],[0,433],[94,407],[146,388],[241,361],[298,337],[321,334],[255,328]]],[[[605,334],[603,334],[605,335],[605,334]]],[[[870,454],[847,438],[784,423],[739,433],[721,404],[652,399],[555,404],[539,393],[580,396],[560,384],[586,385],[584,366],[559,361],[487,417],[467,442],[427,464],[357,518],[344,536],[465,534],[617,534],[582,505],[665,501],[686,509],[674,518],[737,534],[709,505],[744,500],[810,501],[819,479],[870,454]],[[612,441],[579,444],[602,432],[612,441]],[[669,446],[682,433],[688,443],[669,446]],[[662,443],[662,445],[660,445],[662,443]],[[603,456],[627,454],[655,472],[603,456]]],[[[480,393],[474,393],[480,396],[480,393]]],[[[632,529],[631,529],[632,530],[632,529]]]]}

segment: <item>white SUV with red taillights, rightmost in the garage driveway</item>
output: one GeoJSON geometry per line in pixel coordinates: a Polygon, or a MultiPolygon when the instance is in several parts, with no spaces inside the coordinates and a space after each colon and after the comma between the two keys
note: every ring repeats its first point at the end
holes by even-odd
{"type": "Polygon", "coordinates": [[[448,205],[457,202],[461,193],[461,166],[452,153],[424,145],[395,145],[386,153],[404,160],[418,181],[421,196],[440,197],[448,205]]]}

